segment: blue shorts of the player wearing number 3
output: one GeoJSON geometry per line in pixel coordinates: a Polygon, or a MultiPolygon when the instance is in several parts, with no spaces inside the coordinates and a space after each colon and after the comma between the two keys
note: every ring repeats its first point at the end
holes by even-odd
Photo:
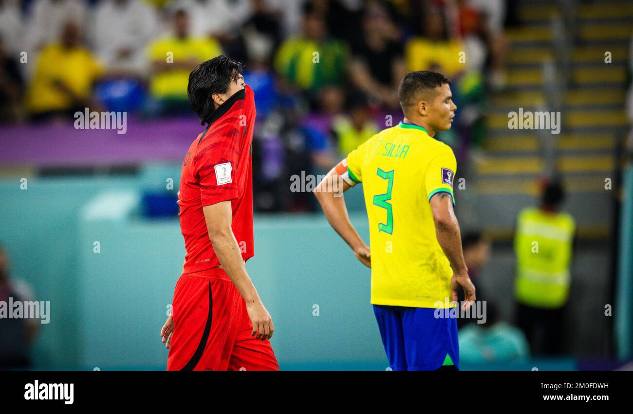
{"type": "Polygon", "coordinates": [[[435,308],[373,305],[373,312],[392,370],[460,368],[455,318],[436,318],[435,308]]]}

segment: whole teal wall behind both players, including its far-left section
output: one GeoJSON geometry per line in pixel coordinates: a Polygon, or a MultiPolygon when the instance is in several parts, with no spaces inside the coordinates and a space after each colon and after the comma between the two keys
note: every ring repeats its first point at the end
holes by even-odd
{"type": "MultiPolygon", "coordinates": [[[[141,180],[30,178],[27,190],[18,179],[0,182],[0,242],[12,273],[32,285],[37,300],[51,301],[51,322],[41,325],[34,347],[37,367],[165,367],[159,332],[184,257],[179,222],[134,212],[114,221],[83,218],[100,193],[163,190],[159,170],[141,180]]],[[[353,221],[367,236],[366,217],[353,221]]],[[[322,215],[256,216],[254,231],[247,269],[275,322],[281,367],[386,368],[370,272],[322,215]]]]}

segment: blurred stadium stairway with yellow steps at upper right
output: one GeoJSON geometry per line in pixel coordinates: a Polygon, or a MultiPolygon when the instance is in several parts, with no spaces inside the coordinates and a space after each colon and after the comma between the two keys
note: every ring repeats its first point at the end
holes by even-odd
{"type": "MultiPolygon", "coordinates": [[[[579,222],[579,238],[604,240],[612,218],[605,179],[615,177],[617,140],[627,130],[624,104],[633,2],[578,3],[578,35],[567,74],[572,82],[562,102],[561,133],[552,138],[558,138],[556,166],[568,192],[565,208],[579,222]],[[607,51],[611,63],[605,63],[607,51]]],[[[520,3],[522,25],[507,32],[508,87],[492,93],[484,148],[473,151],[468,167],[476,195],[467,192],[463,214],[498,240],[509,240],[518,210],[535,204],[537,181],[545,171],[541,131],[510,130],[508,113],[520,107],[546,109],[542,64],[554,58],[551,18],[560,15],[557,4],[520,3]]]]}

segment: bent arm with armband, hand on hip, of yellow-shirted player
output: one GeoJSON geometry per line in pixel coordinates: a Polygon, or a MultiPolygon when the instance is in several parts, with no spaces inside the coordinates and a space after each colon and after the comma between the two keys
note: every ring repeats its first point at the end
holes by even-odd
{"type": "Polygon", "coordinates": [[[345,205],[343,192],[349,190],[351,186],[342,180],[341,176],[334,171],[334,168],[323,178],[323,181],[316,186],[314,195],[321,204],[323,213],[330,226],[339,233],[339,236],[354,252],[360,262],[367,267],[372,267],[370,250],[358,235],[356,229],[349,221],[348,209],[345,205]]]}

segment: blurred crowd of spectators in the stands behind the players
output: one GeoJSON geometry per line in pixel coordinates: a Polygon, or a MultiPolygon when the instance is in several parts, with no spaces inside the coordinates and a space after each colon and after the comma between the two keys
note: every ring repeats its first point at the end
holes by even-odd
{"type": "Polygon", "coordinates": [[[0,0],[0,122],[192,112],[189,72],[227,54],[256,94],[258,210],[311,210],[287,192],[401,119],[412,70],[452,82],[458,160],[482,136],[486,91],[506,83],[503,0],[0,0]],[[279,190],[279,188],[285,189],[279,190]]]}

